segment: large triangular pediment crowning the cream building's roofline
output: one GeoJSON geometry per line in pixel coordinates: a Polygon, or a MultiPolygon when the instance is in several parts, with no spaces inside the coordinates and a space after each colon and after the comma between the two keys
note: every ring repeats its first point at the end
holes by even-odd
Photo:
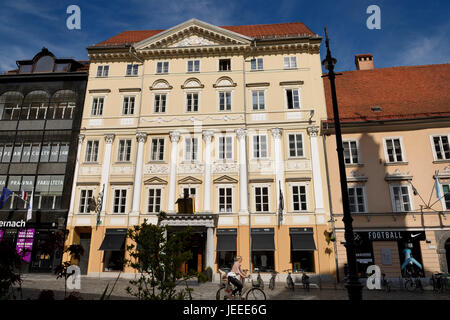
{"type": "Polygon", "coordinates": [[[135,45],[137,50],[250,44],[251,38],[191,19],[135,45]]]}

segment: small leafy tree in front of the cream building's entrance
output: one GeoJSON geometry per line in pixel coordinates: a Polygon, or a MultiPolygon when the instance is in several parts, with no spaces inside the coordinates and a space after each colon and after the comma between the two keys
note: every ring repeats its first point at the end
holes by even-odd
{"type": "Polygon", "coordinates": [[[128,238],[136,243],[127,246],[131,259],[126,263],[137,270],[139,277],[131,280],[135,289],[127,287],[130,295],[140,300],[192,299],[187,280],[197,276],[196,272],[184,273],[181,269],[191,257],[189,251],[190,228],[169,233],[169,227],[161,225],[166,214],[161,212],[158,224],[147,224],[128,230],[128,238]],[[183,282],[185,289],[177,291],[177,283],[183,282]]]}

